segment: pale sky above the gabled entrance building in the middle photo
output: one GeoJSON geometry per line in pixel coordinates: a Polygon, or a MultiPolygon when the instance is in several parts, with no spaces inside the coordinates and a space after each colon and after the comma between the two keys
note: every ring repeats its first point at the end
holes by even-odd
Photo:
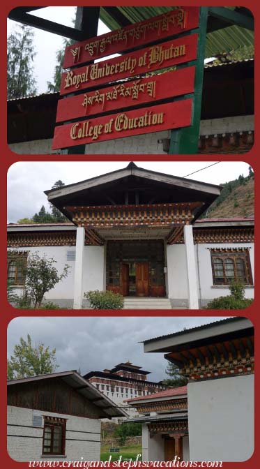
{"type": "MultiPolygon", "coordinates": [[[[18,162],[8,170],[8,223],[15,223],[20,218],[31,218],[45,205],[49,211],[47,196],[44,191],[52,188],[61,179],[65,184],[72,184],[84,179],[125,168],[126,161],[101,162],[18,162]]],[[[204,181],[210,184],[222,184],[236,179],[239,174],[248,175],[249,165],[243,162],[222,161],[213,165],[213,161],[185,162],[148,162],[135,161],[137,166],[148,170],[184,177],[191,172],[201,170],[188,179],[204,181]]]]}

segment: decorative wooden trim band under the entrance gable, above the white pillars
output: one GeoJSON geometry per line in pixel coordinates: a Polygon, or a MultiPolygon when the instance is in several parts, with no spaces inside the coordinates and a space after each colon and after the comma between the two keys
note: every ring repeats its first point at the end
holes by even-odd
{"type": "Polygon", "coordinates": [[[113,226],[167,226],[185,225],[194,218],[194,209],[203,202],[178,202],[172,204],[102,205],[66,207],[73,222],[89,228],[113,226]]]}

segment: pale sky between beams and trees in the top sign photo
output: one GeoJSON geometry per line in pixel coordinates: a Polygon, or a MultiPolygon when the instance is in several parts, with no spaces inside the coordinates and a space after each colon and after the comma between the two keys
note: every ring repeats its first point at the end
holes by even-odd
{"type": "MultiPolygon", "coordinates": [[[[31,14],[43,17],[73,27],[72,20],[75,18],[75,7],[71,6],[49,6],[41,10],[35,10],[31,14]]],[[[7,33],[10,34],[19,25],[12,20],[7,20],[7,33]]],[[[33,60],[34,75],[38,84],[38,94],[47,92],[47,82],[52,82],[54,68],[56,66],[56,52],[63,47],[63,38],[56,34],[47,33],[33,28],[36,57],[33,60]]],[[[98,36],[105,34],[109,29],[101,21],[98,24],[98,36]]],[[[63,47],[64,48],[64,47],[63,47]]]]}

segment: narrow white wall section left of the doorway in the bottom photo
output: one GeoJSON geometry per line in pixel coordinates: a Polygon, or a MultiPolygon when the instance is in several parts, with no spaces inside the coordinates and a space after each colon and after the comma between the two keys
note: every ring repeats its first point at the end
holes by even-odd
{"type": "Polygon", "coordinates": [[[162,435],[150,438],[147,424],[142,425],[142,461],[165,461],[165,440],[162,435]]]}

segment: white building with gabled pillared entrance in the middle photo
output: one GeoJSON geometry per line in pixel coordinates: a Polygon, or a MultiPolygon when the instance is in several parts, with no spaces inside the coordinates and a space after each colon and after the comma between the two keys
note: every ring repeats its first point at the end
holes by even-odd
{"type": "Polygon", "coordinates": [[[221,187],[126,168],[45,191],[70,223],[8,225],[8,278],[22,292],[21,264],[49,255],[68,277],[46,299],[88,306],[84,292],[111,290],[125,308],[199,308],[229,295],[229,284],[254,292],[254,218],[199,216],[221,187]]]}

